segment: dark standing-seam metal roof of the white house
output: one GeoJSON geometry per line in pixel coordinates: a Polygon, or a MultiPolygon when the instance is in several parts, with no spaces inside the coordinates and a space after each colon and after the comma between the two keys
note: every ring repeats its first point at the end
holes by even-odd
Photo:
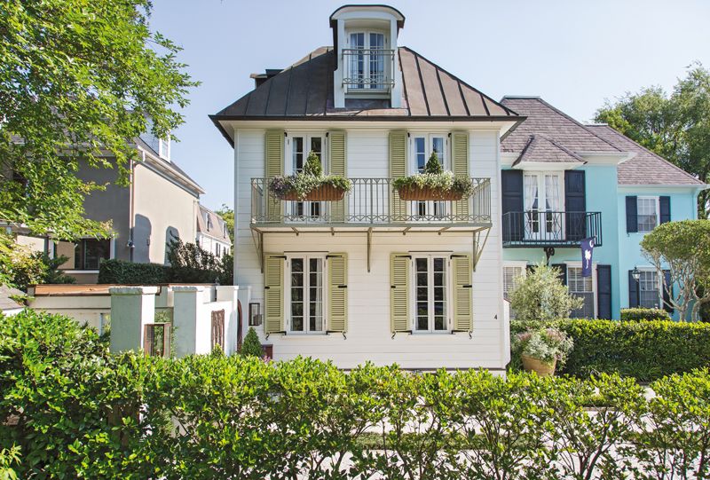
{"type": "Polygon", "coordinates": [[[404,86],[401,108],[390,108],[388,99],[354,98],[346,99],[345,108],[335,108],[335,52],[331,47],[321,47],[265,80],[212,118],[519,118],[511,108],[485,96],[415,51],[399,47],[398,54],[404,86]]]}

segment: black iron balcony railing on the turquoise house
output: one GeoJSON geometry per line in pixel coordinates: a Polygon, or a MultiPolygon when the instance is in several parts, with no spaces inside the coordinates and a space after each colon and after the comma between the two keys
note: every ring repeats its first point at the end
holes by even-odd
{"type": "Polygon", "coordinates": [[[576,247],[595,238],[602,245],[601,212],[508,212],[502,217],[503,247],[576,247]]]}

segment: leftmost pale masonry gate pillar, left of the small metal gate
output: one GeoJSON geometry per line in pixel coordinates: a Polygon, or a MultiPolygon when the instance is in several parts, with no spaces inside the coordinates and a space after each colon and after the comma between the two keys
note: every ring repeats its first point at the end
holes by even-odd
{"type": "Polygon", "coordinates": [[[158,287],[111,287],[111,352],[143,348],[146,324],[155,319],[158,287]]]}

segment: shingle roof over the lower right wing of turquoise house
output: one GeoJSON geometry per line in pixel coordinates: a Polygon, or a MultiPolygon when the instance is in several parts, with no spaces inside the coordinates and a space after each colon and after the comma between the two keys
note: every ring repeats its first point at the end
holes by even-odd
{"type": "Polygon", "coordinates": [[[619,185],[704,185],[698,178],[637,144],[609,125],[588,125],[601,138],[635,157],[619,163],[619,185]]]}

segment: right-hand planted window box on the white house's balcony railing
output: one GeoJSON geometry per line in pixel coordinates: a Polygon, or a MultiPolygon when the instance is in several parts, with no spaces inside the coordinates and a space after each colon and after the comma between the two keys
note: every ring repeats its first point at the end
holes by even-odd
{"type": "Polygon", "coordinates": [[[405,201],[456,201],[469,198],[473,193],[473,181],[445,171],[436,152],[431,153],[424,173],[395,178],[392,186],[399,193],[399,198],[405,201]]]}

